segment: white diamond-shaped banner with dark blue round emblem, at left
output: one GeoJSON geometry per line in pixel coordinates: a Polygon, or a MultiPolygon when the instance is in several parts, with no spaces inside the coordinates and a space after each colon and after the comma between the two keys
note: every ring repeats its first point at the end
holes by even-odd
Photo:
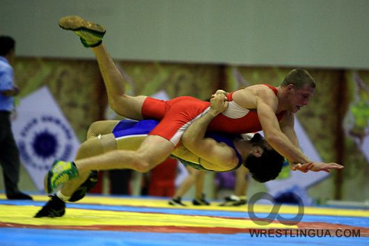
{"type": "Polygon", "coordinates": [[[54,160],[74,160],[79,140],[47,87],[20,100],[12,128],[19,157],[38,190],[44,189],[54,160]]]}

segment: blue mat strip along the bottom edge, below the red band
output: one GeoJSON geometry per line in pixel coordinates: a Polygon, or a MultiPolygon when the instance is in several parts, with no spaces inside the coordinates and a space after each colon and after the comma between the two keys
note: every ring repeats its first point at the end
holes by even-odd
{"type": "Polygon", "coordinates": [[[368,246],[368,238],[280,237],[251,238],[249,234],[138,233],[116,231],[65,231],[55,229],[0,229],[2,246],[368,246]]]}

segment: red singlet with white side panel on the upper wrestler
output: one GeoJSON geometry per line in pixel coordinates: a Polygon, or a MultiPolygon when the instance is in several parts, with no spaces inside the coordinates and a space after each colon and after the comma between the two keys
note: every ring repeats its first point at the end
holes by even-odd
{"type": "MultiPolygon", "coordinates": [[[[274,86],[265,84],[277,93],[274,86]]],[[[233,92],[228,93],[228,108],[210,123],[207,130],[212,132],[226,132],[232,134],[258,132],[262,130],[256,109],[245,109],[237,105],[232,98],[233,92]]],[[[183,132],[192,121],[201,117],[210,109],[210,102],[182,96],[172,100],[157,100],[146,98],[142,106],[143,118],[160,121],[150,135],[158,135],[171,141],[175,146],[180,142],[183,132]]],[[[284,112],[276,114],[278,121],[284,112]]]]}

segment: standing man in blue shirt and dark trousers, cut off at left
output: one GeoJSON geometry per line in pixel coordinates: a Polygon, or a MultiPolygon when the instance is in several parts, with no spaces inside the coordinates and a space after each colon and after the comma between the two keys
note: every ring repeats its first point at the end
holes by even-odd
{"type": "Polygon", "coordinates": [[[18,189],[19,152],[10,122],[14,109],[14,96],[19,89],[14,84],[14,72],[10,63],[15,59],[15,40],[9,36],[0,36],[0,164],[8,199],[32,199],[18,189]]]}

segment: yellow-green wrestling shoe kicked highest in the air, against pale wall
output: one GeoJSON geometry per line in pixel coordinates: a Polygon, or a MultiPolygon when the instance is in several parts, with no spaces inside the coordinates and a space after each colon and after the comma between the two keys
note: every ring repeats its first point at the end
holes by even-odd
{"type": "Polygon", "coordinates": [[[59,20],[62,29],[76,33],[84,47],[96,47],[102,43],[102,37],[107,32],[103,26],[88,22],[79,16],[65,16],[59,20]]]}

